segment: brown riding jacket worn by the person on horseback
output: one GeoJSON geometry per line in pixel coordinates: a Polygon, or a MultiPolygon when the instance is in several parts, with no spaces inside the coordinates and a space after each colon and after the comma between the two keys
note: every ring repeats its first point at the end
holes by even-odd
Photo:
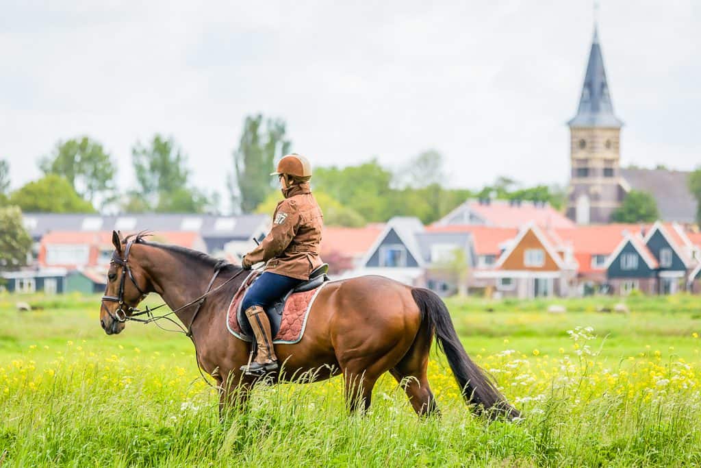
{"type": "Polygon", "coordinates": [[[251,264],[268,262],[266,272],[306,280],[313,269],[322,265],[319,244],[324,215],[308,182],[293,185],[286,192],[286,198],[273,213],[271,231],[246,254],[246,260],[251,264]]]}

